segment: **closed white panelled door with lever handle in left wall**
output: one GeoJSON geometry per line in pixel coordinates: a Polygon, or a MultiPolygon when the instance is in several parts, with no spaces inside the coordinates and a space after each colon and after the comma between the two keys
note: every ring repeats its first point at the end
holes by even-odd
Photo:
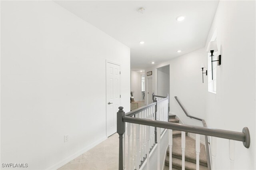
{"type": "Polygon", "coordinates": [[[106,64],[107,136],[116,132],[116,113],[120,106],[120,65],[106,64]]]}

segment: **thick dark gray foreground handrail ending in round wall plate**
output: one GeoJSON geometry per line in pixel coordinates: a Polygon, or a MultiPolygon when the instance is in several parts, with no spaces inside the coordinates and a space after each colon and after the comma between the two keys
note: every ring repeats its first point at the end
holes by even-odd
{"type": "Polygon", "coordinates": [[[202,134],[206,136],[214,136],[218,138],[225,138],[230,140],[237,140],[246,143],[246,148],[250,146],[250,133],[247,127],[244,127],[242,132],[235,132],[231,130],[222,130],[217,128],[206,128],[191,125],[181,125],[178,123],[154,121],[150,119],[141,119],[136,117],[123,116],[123,121],[128,123],[135,123],[139,125],[146,125],[151,127],[168,128],[172,130],[179,130],[183,132],[202,134]]]}

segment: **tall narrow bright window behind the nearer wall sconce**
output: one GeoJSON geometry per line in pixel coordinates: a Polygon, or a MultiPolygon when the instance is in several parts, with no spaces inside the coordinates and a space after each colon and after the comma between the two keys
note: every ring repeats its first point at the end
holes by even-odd
{"type": "MultiPolygon", "coordinates": [[[[217,30],[214,31],[210,41],[217,40],[217,30]]],[[[214,56],[210,57],[210,53],[207,53],[208,57],[208,91],[211,93],[216,93],[216,77],[217,77],[217,62],[212,62],[212,60],[217,60],[217,53],[213,53],[214,56]],[[213,73],[213,79],[212,79],[213,73]]]]}

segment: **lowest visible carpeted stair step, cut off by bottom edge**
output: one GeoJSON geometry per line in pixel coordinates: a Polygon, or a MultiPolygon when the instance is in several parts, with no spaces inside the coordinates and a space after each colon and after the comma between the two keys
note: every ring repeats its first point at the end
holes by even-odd
{"type": "MultiPolygon", "coordinates": [[[[169,156],[166,156],[165,166],[169,166],[169,156]]],[[[172,168],[176,168],[178,170],[182,169],[182,160],[177,158],[172,158],[172,168]]],[[[208,170],[206,166],[200,165],[200,170],[208,170]]],[[[185,161],[185,170],[196,170],[196,164],[192,162],[185,161]]]]}

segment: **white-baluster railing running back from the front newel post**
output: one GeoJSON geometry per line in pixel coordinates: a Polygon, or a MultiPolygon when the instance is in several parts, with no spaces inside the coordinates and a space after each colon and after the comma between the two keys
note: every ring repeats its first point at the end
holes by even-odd
{"type": "MultiPolygon", "coordinates": [[[[161,99],[155,97],[153,103],[130,111],[129,113],[126,113],[125,116],[168,122],[168,102],[169,95],[166,95],[166,97],[162,97],[161,99]]],[[[120,120],[118,120],[118,122],[119,121],[120,120]]],[[[127,123],[127,130],[125,132],[125,129],[120,128],[119,125],[120,124],[118,123],[117,129],[119,130],[117,130],[117,132],[124,134],[124,138],[122,139],[124,140],[122,142],[124,150],[121,150],[122,153],[119,152],[119,154],[124,156],[124,159],[123,163],[120,164],[122,164],[124,169],[138,170],[146,160],[146,155],[149,155],[156,143],[158,146],[157,149],[160,151],[160,138],[158,138],[158,136],[161,136],[162,132],[164,132],[164,128],[157,130],[157,128],[153,126],[127,123]]],[[[147,161],[149,162],[149,159],[147,161]]]]}

